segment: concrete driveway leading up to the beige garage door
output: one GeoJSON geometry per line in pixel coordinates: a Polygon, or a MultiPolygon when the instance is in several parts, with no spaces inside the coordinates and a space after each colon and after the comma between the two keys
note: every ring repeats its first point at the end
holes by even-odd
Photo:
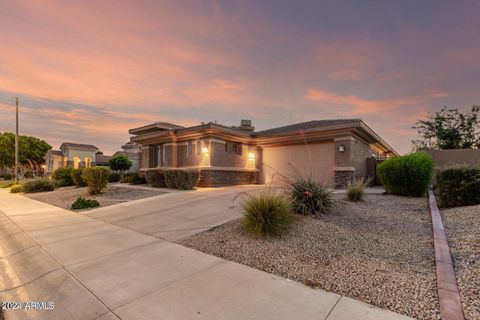
{"type": "Polygon", "coordinates": [[[199,188],[195,191],[170,190],[167,194],[84,214],[143,234],[177,241],[241,217],[241,199],[238,196],[260,188],[252,185],[199,188]]]}

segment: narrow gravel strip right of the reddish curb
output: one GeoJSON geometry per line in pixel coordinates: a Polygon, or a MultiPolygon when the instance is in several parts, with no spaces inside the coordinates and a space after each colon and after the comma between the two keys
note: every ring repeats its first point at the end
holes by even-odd
{"type": "Polygon", "coordinates": [[[441,210],[465,319],[480,319],[480,205],[441,210]]]}

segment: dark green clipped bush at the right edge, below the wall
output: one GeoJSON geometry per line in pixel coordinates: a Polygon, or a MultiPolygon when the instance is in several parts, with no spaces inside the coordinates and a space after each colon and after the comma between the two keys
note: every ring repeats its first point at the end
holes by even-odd
{"type": "Polygon", "coordinates": [[[458,166],[437,171],[435,191],[442,207],[480,204],[480,167],[458,166]]]}

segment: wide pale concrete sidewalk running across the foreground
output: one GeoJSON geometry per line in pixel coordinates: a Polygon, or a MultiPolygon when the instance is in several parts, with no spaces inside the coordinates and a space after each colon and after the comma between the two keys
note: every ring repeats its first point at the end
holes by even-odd
{"type": "Polygon", "coordinates": [[[409,319],[7,190],[0,300],[55,306],[6,319],[409,319]]]}

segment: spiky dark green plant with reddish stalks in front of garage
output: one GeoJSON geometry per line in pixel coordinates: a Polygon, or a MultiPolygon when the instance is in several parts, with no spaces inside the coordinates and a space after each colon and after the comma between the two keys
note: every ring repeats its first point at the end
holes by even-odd
{"type": "Polygon", "coordinates": [[[300,214],[326,213],[333,205],[333,199],[327,187],[315,181],[311,176],[298,176],[289,188],[293,209],[300,214]]]}

